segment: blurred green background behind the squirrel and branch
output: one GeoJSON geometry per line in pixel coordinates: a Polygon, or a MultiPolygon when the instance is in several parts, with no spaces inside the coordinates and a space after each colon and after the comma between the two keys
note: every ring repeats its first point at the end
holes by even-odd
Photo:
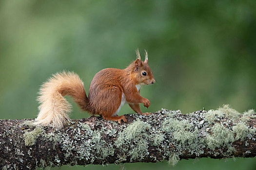
{"type": "MultiPolygon", "coordinates": [[[[77,72],[88,94],[95,73],[125,68],[136,59],[136,48],[141,55],[148,50],[157,81],[141,90],[151,102],[143,112],[189,113],[224,103],[239,112],[256,108],[255,9],[255,0],[0,0],[0,119],[36,118],[39,86],[63,69],[77,72]]],[[[72,119],[89,117],[72,103],[72,119]]],[[[120,113],[133,111],[125,105],[120,113]]],[[[256,169],[256,158],[193,162],[125,166],[256,169]]],[[[86,167],[96,168],[119,167],[86,167]]]]}

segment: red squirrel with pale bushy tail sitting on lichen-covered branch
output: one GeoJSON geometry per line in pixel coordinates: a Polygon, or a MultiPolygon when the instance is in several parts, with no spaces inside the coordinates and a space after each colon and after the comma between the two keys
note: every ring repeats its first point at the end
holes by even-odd
{"type": "Polygon", "coordinates": [[[78,103],[82,111],[92,115],[100,115],[105,120],[121,123],[127,122],[125,116],[118,116],[123,104],[129,106],[138,114],[142,113],[139,103],[150,106],[148,99],[139,95],[141,85],[151,85],[156,81],[148,66],[148,54],[145,51],[145,60],[141,61],[139,51],[136,51],[137,60],[125,69],[105,68],[95,74],[86,96],[83,82],[77,74],[62,71],[54,74],[47,82],[41,85],[38,101],[39,114],[36,124],[53,124],[61,129],[69,119],[71,105],[63,96],[69,95],[78,103]]]}

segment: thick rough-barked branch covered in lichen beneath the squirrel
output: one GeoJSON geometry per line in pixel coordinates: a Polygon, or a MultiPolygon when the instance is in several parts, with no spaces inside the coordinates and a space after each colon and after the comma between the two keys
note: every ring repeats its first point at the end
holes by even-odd
{"type": "Polygon", "coordinates": [[[232,117],[223,110],[211,111],[181,114],[162,109],[149,116],[126,115],[128,122],[121,125],[92,116],[68,120],[62,130],[35,126],[33,119],[0,120],[0,168],[165,159],[175,165],[196,157],[256,156],[255,112],[232,117]]]}

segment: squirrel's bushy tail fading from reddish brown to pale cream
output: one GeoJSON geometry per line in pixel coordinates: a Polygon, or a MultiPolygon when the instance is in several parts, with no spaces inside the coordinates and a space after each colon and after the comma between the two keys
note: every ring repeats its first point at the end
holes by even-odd
{"type": "Polygon", "coordinates": [[[41,86],[36,123],[42,125],[53,123],[56,128],[61,129],[66,119],[69,119],[72,108],[63,97],[65,95],[71,96],[83,111],[87,110],[89,100],[83,82],[74,72],[62,71],[54,74],[41,86]]]}

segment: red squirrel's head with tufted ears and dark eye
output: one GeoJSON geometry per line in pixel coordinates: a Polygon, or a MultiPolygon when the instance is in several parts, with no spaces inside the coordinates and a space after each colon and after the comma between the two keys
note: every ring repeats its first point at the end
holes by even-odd
{"type": "Polygon", "coordinates": [[[140,85],[152,85],[156,83],[153,73],[148,66],[148,53],[145,50],[145,60],[141,61],[139,51],[136,50],[137,60],[134,62],[134,73],[140,85]]]}

